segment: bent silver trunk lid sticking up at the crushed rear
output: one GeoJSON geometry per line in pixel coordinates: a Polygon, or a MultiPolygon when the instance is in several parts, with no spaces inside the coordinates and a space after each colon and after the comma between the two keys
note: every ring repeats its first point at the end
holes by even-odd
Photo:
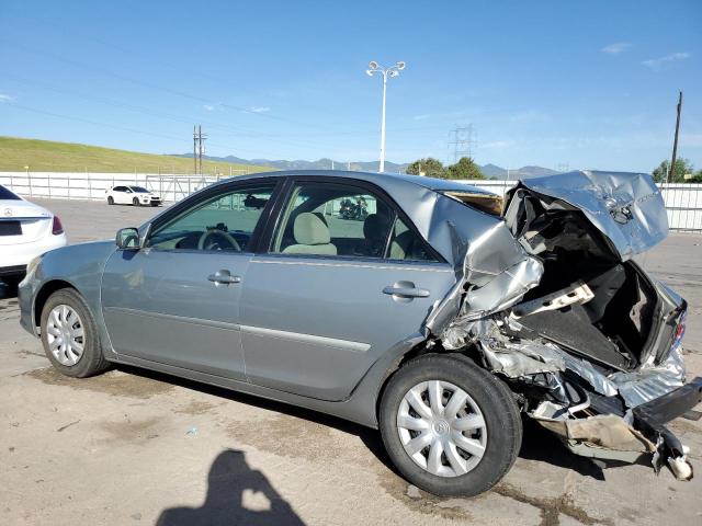
{"type": "Polygon", "coordinates": [[[521,181],[519,188],[562,199],[580,209],[611,241],[621,261],[659,243],[668,235],[660,191],[646,173],[575,171],[521,181]]]}

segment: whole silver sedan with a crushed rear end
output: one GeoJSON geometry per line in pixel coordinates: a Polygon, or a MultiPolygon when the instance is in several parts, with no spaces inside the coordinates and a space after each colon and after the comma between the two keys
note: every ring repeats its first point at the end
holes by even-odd
{"type": "Polygon", "coordinates": [[[497,483],[522,416],[576,454],[684,479],[665,424],[701,399],[687,306],[633,261],[667,230],[644,174],[530,179],[503,207],[430,178],[254,174],[37,258],[21,323],[68,376],[129,364],[380,428],[439,495],[497,483]],[[365,221],[324,214],[359,196],[365,221]]]}

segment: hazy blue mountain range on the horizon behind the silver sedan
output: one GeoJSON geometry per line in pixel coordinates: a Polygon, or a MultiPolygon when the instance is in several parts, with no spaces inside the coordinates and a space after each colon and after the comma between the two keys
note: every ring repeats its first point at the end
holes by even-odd
{"type": "MultiPolygon", "coordinates": [[[[193,157],[192,153],[182,153],[176,155],[177,157],[193,157]]],[[[214,162],[229,162],[236,164],[253,164],[257,167],[269,167],[275,170],[353,170],[360,172],[375,172],[378,168],[378,161],[352,161],[352,162],[340,162],[335,161],[332,159],[318,159],[316,161],[305,161],[302,159],[295,161],[286,161],[286,160],[271,160],[271,159],[241,159],[235,156],[227,157],[211,157],[203,156],[203,159],[207,159],[208,161],[214,162]]],[[[396,162],[385,161],[385,171],[394,172],[394,173],[405,173],[409,167],[408,162],[398,164],[396,162]]],[[[498,167],[497,164],[484,164],[480,167],[480,171],[485,174],[486,178],[496,178],[496,179],[507,179],[508,173],[507,169],[502,167],[498,167]]],[[[509,179],[529,179],[529,178],[540,178],[543,175],[554,175],[558,173],[555,170],[551,170],[548,168],[543,167],[522,167],[517,170],[509,171],[509,179]]]]}

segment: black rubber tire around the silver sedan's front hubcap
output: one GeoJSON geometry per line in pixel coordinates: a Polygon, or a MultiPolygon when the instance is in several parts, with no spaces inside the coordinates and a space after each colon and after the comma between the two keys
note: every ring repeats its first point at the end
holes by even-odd
{"type": "Polygon", "coordinates": [[[61,288],[60,290],[52,294],[44,308],[42,309],[42,344],[44,345],[44,352],[49,362],[56,369],[66,376],[72,376],[75,378],[86,378],[93,376],[107,369],[110,363],[104,358],[102,354],[102,345],[100,344],[100,333],[95,325],[95,320],[90,313],[90,309],[86,304],[86,300],[72,288],[61,288]],[[67,305],[72,308],[83,327],[83,354],[80,356],[75,365],[67,366],[56,359],[54,354],[49,351],[48,333],[46,330],[47,320],[52,310],[59,306],[67,305]]]}

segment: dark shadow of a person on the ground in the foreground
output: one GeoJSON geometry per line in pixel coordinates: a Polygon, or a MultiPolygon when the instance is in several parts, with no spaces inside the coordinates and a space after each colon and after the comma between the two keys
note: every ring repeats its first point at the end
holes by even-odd
{"type": "Polygon", "coordinates": [[[207,496],[200,507],[163,510],[157,526],[304,525],[265,476],[251,469],[244,451],[217,455],[207,474],[207,496]]]}

